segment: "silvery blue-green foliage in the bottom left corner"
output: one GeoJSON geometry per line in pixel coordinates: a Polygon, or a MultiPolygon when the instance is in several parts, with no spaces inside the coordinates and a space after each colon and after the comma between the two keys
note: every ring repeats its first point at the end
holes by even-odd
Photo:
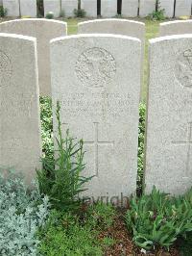
{"type": "Polygon", "coordinates": [[[22,176],[12,171],[7,178],[0,175],[0,255],[36,255],[36,231],[48,213],[48,197],[29,192],[22,176]]]}

